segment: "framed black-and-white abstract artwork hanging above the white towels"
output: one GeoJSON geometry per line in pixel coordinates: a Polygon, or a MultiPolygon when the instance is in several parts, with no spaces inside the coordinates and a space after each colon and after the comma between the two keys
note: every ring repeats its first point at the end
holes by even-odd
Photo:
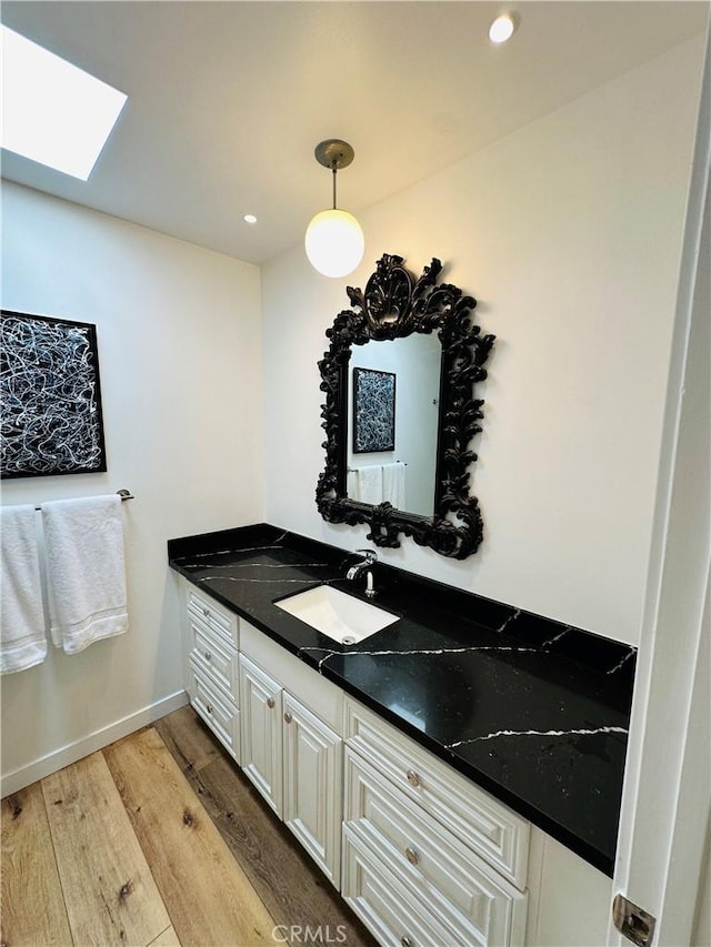
{"type": "Polygon", "coordinates": [[[0,475],[106,471],[96,325],[2,310],[0,475]]]}

